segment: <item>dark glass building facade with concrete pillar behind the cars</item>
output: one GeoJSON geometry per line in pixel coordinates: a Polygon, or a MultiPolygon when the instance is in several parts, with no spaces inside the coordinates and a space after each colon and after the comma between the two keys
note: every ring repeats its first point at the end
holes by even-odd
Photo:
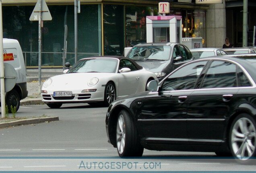
{"type": "MultiPolygon", "coordinates": [[[[4,38],[19,40],[27,68],[38,66],[38,21],[29,20],[36,2],[37,0],[2,0],[4,38]]],[[[43,21],[41,65],[43,68],[62,67],[65,25],[65,61],[74,64],[74,0],[45,2],[52,20],[43,21]]],[[[88,56],[122,55],[124,47],[146,42],[146,16],[160,15],[159,0],[80,2],[81,12],[77,15],[78,60],[88,56]]],[[[168,2],[170,13],[166,15],[182,16],[182,37],[202,37],[203,47],[222,46],[225,39],[225,3],[198,5],[194,0],[168,2]]]]}

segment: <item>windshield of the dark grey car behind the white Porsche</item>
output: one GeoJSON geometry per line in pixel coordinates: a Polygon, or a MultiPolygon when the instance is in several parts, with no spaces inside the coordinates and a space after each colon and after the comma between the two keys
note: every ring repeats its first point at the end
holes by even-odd
{"type": "Polygon", "coordinates": [[[169,60],[170,54],[171,46],[135,46],[127,57],[133,60],[169,60]]]}

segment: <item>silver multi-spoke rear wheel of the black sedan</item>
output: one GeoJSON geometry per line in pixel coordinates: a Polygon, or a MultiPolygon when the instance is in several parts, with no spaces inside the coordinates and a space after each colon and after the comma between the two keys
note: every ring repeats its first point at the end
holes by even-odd
{"type": "Polygon", "coordinates": [[[252,162],[256,153],[256,123],[248,114],[241,114],[231,125],[229,144],[230,149],[241,163],[252,162]]]}

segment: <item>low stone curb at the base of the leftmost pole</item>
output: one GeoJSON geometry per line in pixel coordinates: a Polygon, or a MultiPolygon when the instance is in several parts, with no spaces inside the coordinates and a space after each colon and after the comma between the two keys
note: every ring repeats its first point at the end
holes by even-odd
{"type": "Polygon", "coordinates": [[[41,118],[32,118],[32,119],[23,119],[23,120],[16,120],[10,122],[3,122],[0,123],[0,128],[10,127],[10,126],[18,126],[18,125],[29,125],[35,123],[43,123],[49,121],[59,121],[59,117],[41,117],[41,118]]]}

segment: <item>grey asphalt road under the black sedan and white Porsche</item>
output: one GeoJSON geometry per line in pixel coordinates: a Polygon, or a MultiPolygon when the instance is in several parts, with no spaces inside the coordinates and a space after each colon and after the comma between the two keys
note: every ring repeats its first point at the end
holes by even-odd
{"type": "Polygon", "coordinates": [[[145,149],[142,158],[120,159],[107,143],[106,111],[87,104],[22,106],[17,116],[58,116],[59,121],[0,129],[0,171],[255,171],[254,165],[214,153],[145,149]]]}

